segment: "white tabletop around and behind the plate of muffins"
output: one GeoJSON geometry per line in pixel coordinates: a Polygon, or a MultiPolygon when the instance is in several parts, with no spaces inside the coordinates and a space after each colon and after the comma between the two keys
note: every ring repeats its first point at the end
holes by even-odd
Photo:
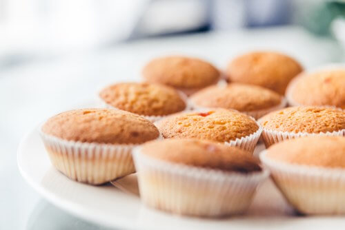
{"type": "Polygon", "coordinates": [[[286,27],[148,39],[0,70],[0,229],[105,229],[50,205],[19,175],[20,138],[44,118],[92,98],[106,83],[139,81],[153,56],[190,54],[224,68],[255,49],[286,52],[306,68],[344,57],[331,39],[286,27]]]}

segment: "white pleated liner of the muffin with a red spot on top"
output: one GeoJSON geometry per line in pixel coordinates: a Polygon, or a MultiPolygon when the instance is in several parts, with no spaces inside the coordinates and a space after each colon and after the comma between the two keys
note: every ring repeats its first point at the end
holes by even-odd
{"type": "MultiPolygon", "coordinates": [[[[212,109],[215,108],[201,108],[201,109],[195,109],[191,112],[208,112],[212,109]]],[[[235,109],[233,109],[235,110],[235,109]]],[[[183,112],[185,113],[185,112],[183,112]]],[[[181,114],[183,114],[181,113],[181,114]]],[[[188,113],[188,112],[186,112],[188,113]]],[[[255,118],[250,117],[253,121],[255,121],[255,118]]],[[[236,138],[235,140],[229,140],[229,141],[225,141],[224,145],[230,145],[230,146],[235,146],[235,147],[239,147],[241,149],[244,149],[246,151],[249,151],[250,153],[253,154],[254,149],[257,145],[257,142],[259,141],[259,138],[262,134],[262,127],[259,123],[257,123],[257,121],[255,121],[255,123],[257,124],[257,131],[255,131],[255,133],[250,134],[248,136],[242,136],[242,138],[236,138]]],[[[159,121],[155,123],[155,125],[157,126],[159,124],[159,121]]],[[[164,137],[163,137],[164,138],[164,137]]]]}

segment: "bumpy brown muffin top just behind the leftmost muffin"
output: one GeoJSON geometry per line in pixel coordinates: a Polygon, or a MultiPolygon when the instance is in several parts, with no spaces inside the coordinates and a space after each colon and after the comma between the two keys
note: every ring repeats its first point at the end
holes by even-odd
{"type": "Polygon", "coordinates": [[[146,116],[164,116],[186,108],[179,92],[166,85],[118,83],[103,89],[99,96],[112,107],[146,116]]]}

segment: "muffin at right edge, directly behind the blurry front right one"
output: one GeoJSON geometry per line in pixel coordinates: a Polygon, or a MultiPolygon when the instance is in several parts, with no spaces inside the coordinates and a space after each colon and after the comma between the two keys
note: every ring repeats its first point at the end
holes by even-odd
{"type": "Polygon", "coordinates": [[[259,119],[266,147],[299,136],[344,136],[345,112],[331,107],[288,107],[259,119]]]}

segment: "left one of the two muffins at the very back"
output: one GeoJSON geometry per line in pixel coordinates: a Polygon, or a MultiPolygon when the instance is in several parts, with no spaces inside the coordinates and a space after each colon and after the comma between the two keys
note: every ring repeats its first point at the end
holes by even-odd
{"type": "Polygon", "coordinates": [[[187,95],[219,80],[219,71],[210,63],[187,56],[166,56],[153,59],[143,71],[150,83],[170,85],[187,95]]]}

